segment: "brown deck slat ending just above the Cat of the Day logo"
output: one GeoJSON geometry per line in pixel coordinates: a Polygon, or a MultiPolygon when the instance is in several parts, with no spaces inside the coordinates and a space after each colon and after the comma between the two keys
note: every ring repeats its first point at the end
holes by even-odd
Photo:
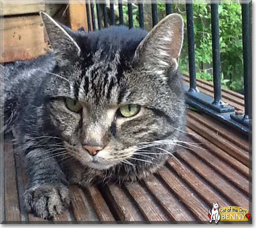
{"type": "Polygon", "coordinates": [[[202,161],[197,159],[189,150],[180,151],[177,153],[179,159],[189,164],[201,177],[210,183],[213,188],[219,191],[224,197],[232,202],[232,206],[241,206],[243,208],[249,208],[248,197],[245,197],[241,192],[237,192],[234,186],[231,186],[223,177],[220,177],[211,170],[209,166],[206,166],[202,161]]]}

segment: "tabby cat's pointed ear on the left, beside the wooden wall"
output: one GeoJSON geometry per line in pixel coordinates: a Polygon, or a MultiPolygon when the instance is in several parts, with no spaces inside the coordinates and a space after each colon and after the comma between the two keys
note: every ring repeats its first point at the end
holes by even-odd
{"type": "Polygon", "coordinates": [[[54,51],[56,63],[59,66],[65,66],[67,62],[79,57],[81,49],[70,35],[72,30],[66,27],[64,29],[43,11],[40,11],[40,16],[54,51]]]}

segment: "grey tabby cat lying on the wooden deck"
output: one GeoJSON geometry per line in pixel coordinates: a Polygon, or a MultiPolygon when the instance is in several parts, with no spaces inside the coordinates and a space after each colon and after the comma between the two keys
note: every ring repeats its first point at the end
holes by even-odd
{"type": "Polygon", "coordinates": [[[24,205],[48,219],[69,206],[70,184],[144,179],[174,152],[186,122],[184,22],[171,14],[149,33],[86,33],[40,15],[52,51],[6,64],[2,99],[28,178],[24,205]]]}

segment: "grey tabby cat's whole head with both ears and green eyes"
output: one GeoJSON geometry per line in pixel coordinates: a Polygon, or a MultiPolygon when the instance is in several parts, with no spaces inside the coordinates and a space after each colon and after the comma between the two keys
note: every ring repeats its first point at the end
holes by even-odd
{"type": "Polygon", "coordinates": [[[169,15],[148,34],[123,26],[74,32],[41,17],[56,60],[46,110],[69,153],[98,170],[163,164],[185,124],[182,17],[169,15]]]}

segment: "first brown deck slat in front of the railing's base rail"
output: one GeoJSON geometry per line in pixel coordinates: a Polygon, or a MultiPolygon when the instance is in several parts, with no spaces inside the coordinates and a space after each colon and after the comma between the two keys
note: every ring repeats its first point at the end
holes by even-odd
{"type": "Polygon", "coordinates": [[[220,135],[221,137],[229,140],[233,144],[236,144],[236,146],[239,146],[243,150],[249,151],[249,140],[243,139],[243,137],[240,135],[237,135],[236,133],[232,131],[227,131],[227,129],[221,127],[218,124],[215,124],[214,122],[210,121],[206,117],[199,115],[198,113],[187,111],[187,115],[191,117],[193,120],[196,120],[200,124],[203,124],[207,128],[211,129],[212,131],[215,131],[216,134],[220,135]]]}

